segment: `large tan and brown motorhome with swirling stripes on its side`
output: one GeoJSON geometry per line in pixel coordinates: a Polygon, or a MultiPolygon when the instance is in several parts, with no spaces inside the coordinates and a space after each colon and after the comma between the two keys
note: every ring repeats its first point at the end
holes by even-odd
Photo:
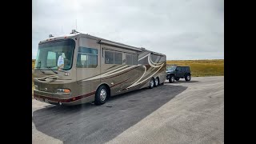
{"type": "Polygon", "coordinates": [[[55,105],[94,102],[166,80],[166,55],[72,33],[39,42],[34,98],[55,105]]]}

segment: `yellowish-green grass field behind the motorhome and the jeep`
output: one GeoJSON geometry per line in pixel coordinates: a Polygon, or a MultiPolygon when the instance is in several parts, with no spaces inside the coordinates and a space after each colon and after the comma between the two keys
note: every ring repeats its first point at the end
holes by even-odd
{"type": "MultiPolygon", "coordinates": [[[[34,62],[32,60],[32,70],[34,69],[34,62]]],[[[167,66],[190,66],[192,77],[205,76],[221,76],[224,75],[224,59],[214,60],[177,60],[167,61],[167,66]]],[[[34,90],[33,82],[34,74],[32,74],[32,93],[34,90]]]]}

